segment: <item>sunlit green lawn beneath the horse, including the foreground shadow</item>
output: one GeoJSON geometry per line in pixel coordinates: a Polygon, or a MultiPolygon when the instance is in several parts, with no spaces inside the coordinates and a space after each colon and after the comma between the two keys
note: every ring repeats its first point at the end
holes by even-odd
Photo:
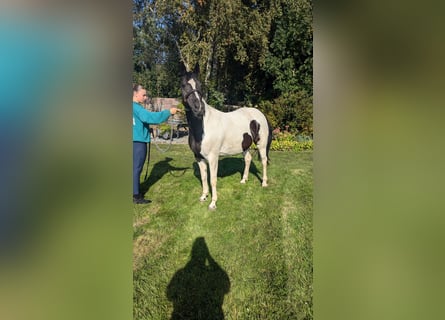
{"type": "Polygon", "coordinates": [[[312,152],[271,152],[267,188],[256,156],[245,185],[242,169],[220,159],[209,211],[188,146],[152,147],[153,202],[134,206],[134,319],[313,318],[312,152]]]}

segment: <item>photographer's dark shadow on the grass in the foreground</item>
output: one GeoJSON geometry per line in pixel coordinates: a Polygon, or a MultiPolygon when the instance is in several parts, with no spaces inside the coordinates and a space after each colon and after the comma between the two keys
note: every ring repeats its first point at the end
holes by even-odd
{"type": "Polygon", "coordinates": [[[171,320],[223,320],[224,295],[229,291],[229,276],[210,255],[204,237],[198,237],[190,261],[167,287],[167,298],[173,303],[171,320]]]}

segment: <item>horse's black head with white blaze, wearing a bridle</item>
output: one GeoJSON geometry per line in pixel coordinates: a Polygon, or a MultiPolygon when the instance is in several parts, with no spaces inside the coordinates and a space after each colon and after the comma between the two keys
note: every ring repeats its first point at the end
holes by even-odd
{"type": "Polygon", "coordinates": [[[196,117],[202,118],[205,113],[205,103],[202,99],[198,74],[197,66],[193,72],[185,72],[181,81],[181,92],[186,111],[191,111],[196,117]]]}

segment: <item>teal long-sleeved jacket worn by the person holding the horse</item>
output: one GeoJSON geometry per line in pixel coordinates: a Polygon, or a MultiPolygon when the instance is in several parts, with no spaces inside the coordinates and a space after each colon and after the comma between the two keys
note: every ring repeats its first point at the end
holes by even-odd
{"type": "Polygon", "coordinates": [[[159,124],[167,121],[170,110],[151,112],[139,103],[133,102],[133,141],[150,142],[149,124],[159,124]]]}

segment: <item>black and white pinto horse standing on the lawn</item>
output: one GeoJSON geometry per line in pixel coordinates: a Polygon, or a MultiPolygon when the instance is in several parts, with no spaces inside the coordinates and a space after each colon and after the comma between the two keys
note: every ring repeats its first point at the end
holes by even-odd
{"type": "Polygon", "coordinates": [[[197,79],[198,70],[195,67],[193,72],[185,72],[181,91],[189,124],[189,145],[201,174],[200,201],[205,201],[209,194],[208,163],[212,186],[209,209],[216,209],[216,179],[220,155],[243,153],[245,168],[241,183],[246,183],[252,161],[249,149],[252,143],[255,143],[263,165],[262,186],[267,187],[267,163],[272,131],[266,117],[258,109],[239,108],[232,112],[221,112],[209,106],[202,97],[201,83],[197,79]]]}

